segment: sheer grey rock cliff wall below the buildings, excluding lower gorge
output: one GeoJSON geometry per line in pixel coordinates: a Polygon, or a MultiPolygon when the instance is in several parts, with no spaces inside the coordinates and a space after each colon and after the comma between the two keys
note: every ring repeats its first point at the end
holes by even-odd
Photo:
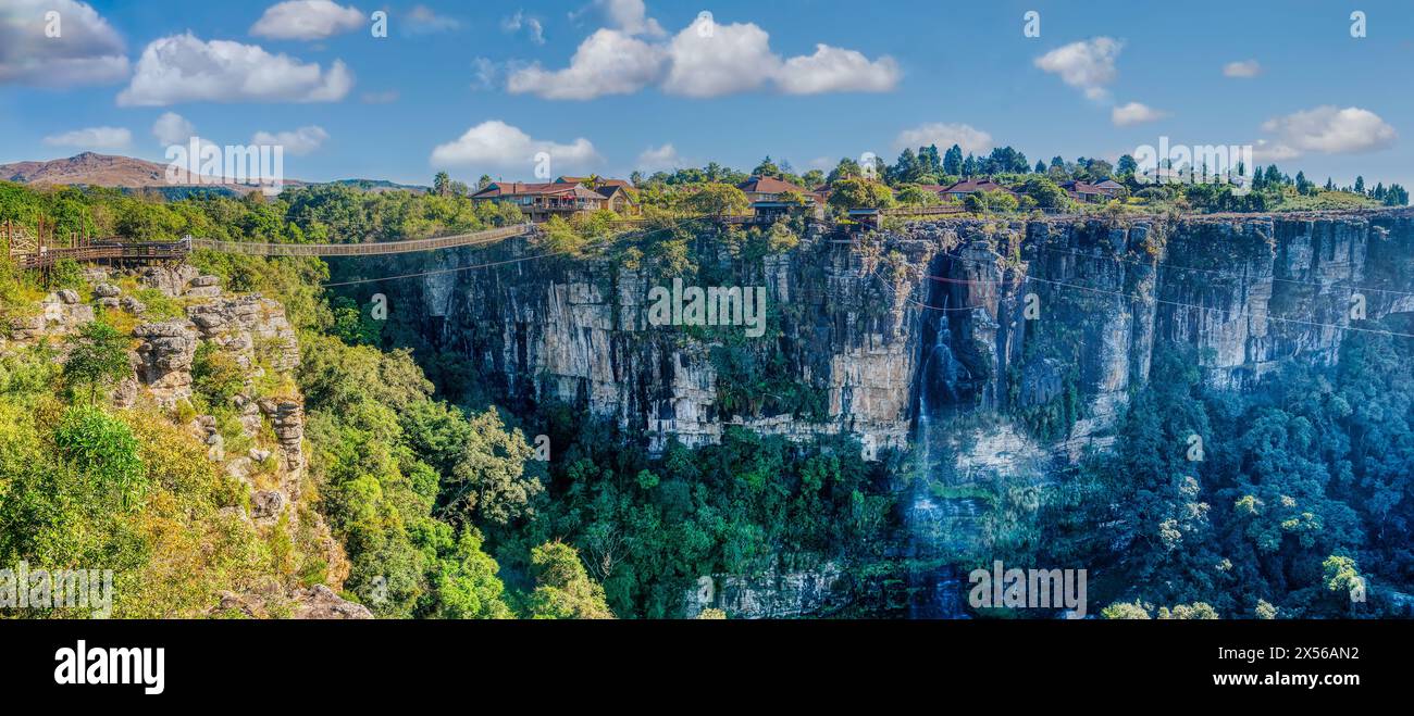
{"type": "MultiPolygon", "coordinates": [[[[771,329],[752,345],[779,359],[783,380],[822,394],[814,414],[724,407],[730,366],[713,349],[738,339],[653,325],[650,291],[670,280],[608,261],[443,273],[395,299],[505,395],[578,404],[655,446],[669,435],[713,442],[741,424],[792,438],[848,432],[871,452],[908,445],[930,421],[1041,421],[1070,401],[1041,445],[1004,428],[983,431],[998,451],[956,456],[988,469],[1038,446],[1062,458],[1103,446],[1158,345],[1195,346],[1206,380],[1230,390],[1251,390],[1291,356],[1336,360],[1360,311],[1414,311],[1411,222],[1407,210],[953,220],[813,232],[755,265],[728,261],[740,285],[768,290],[771,329]]],[[[518,241],[448,267],[533,253],[518,241]]]]}

